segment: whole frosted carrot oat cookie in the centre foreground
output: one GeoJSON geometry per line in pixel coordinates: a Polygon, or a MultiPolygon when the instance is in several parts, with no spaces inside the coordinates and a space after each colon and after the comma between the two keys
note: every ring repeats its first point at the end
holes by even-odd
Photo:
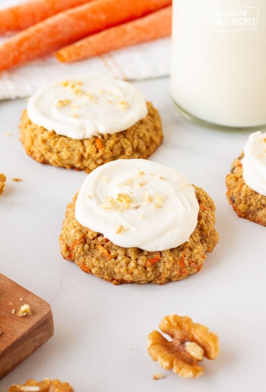
{"type": "Polygon", "coordinates": [[[91,172],[68,204],[61,253],[114,284],[180,280],[218,242],[214,210],[175,169],[119,159],[91,172]]]}

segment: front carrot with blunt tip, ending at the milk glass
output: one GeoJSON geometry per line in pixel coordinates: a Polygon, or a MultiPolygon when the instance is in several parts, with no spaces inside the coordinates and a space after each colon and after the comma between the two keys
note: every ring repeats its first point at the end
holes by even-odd
{"type": "Polygon", "coordinates": [[[56,57],[60,62],[71,62],[166,37],[171,34],[171,14],[172,6],[169,5],[142,18],[83,38],[61,49],[56,57]]]}

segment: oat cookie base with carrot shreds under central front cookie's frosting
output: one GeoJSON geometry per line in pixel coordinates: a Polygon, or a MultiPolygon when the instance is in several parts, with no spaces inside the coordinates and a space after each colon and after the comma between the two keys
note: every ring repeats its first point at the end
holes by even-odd
{"type": "Polygon", "coordinates": [[[201,269],[205,252],[211,252],[219,239],[214,229],[214,202],[201,188],[195,189],[199,200],[196,229],[188,242],[162,252],[122,248],[102,234],[81,226],[74,216],[75,195],[67,206],[60,235],[62,256],[74,261],[83,271],[114,284],[163,284],[184,279],[201,269]]]}

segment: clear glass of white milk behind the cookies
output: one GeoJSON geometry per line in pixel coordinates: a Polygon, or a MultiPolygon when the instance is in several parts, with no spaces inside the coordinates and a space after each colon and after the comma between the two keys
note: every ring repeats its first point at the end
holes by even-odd
{"type": "Polygon", "coordinates": [[[174,0],[171,94],[210,123],[266,124],[266,0],[174,0]]]}

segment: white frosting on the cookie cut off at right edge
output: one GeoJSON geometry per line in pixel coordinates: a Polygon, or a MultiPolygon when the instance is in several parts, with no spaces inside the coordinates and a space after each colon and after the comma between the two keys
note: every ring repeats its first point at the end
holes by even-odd
{"type": "Polygon", "coordinates": [[[244,146],[243,178],[254,191],[266,196],[266,133],[254,132],[244,146]]]}

